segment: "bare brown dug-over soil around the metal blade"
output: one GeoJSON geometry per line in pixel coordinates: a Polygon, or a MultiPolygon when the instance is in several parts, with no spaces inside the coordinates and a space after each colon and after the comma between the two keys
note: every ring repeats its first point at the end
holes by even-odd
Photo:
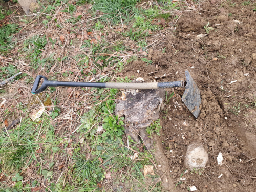
{"type": "Polygon", "coordinates": [[[197,119],[181,101],[184,89],[168,90],[175,95],[161,112],[162,134],[154,138],[156,147],[162,143],[156,161],[161,165],[168,159],[168,167],[158,173],[167,170],[166,177],[172,180],[163,185],[167,190],[181,181],[187,145],[195,141],[207,149],[208,163],[202,174],[182,175],[186,180],[176,186],[177,191],[192,185],[204,192],[256,190],[256,159],[251,160],[256,155],[256,12],[255,5],[242,2],[205,1],[200,7],[204,11],[183,12],[176,31],[164,37],[165,45],[150,50],[153,63],[136,61],[124,69],[123,76],[135,75],[147,82],[182,80],[188,69],[200,89],[202,109],[197,119]],[[206,34],[208,22],[214,30],[206,34]]]}

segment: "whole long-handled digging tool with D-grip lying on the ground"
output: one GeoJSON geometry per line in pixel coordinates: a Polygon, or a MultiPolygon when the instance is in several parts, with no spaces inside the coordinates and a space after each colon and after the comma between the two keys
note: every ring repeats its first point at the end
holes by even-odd
{"type": "Polygon", "coordinates": [[[158,88],[185,88],[181,100],[185,103],[189,111],[197,118],[200,113],[201,96],[197,84],[190,76],[189,72],[185,71],[186,81],[174,82],[148,82],[148,83],[125,83],[125,82],[67,82],[67,81],[49,81],[45,76],[38,75],[35,79],[31,92],[38,94],[44,91],[47,87],[94,87],[94,88],[116,88],[116,89],[158,89],[158,88]],[[41,87],[38,88],[40,80],[44,79],[41,87]]]}

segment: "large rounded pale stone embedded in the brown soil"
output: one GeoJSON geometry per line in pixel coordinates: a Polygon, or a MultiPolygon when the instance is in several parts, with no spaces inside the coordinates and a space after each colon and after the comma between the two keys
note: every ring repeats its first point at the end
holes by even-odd
{"type": "Polygon", "coordinates": [[[185,156],[185,167],[190,170],[193,168],[204,168],[208,161],[208,153],[201,143],[191,143],[187,147],[185,156]]]}

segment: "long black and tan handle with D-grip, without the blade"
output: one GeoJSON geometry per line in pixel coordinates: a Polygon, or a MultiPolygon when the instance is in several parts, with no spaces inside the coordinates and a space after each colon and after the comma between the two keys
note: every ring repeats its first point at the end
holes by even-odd
{"type": "Polygon", "coordinates": [[[94,87],[94,88],[116,88],[116,89],[158,89],[158,88],[174,88],[174,87],[186,87],[186,81],[174,81],[174,82],[149,82],[149,83],[116,83],[116,82],[66,82],[66,81],[49,81],[45,76],[38,75],[35,78],[31,92],[38,94],[43,92],[47,87],[94,87]],[[38,88],[41,79],[44,81],[41,87],[38,88]]]}

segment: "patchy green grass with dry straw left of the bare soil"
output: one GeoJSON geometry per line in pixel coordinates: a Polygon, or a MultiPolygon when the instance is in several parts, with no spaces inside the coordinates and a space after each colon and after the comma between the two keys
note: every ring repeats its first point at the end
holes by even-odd
{"type": "MultiPolygon", "coordinates": [[[[42,14],[19,22],[13,17],[0,27],[1,79],[23,72],[0,90],[15,93],[0,108],[3,121],[10,125],[22,119],[8,133],[0,133],[0,176],[4,174],[0,191],[99,191],[114,184],[146,191],[143,166],[154,164],[154,157],[141,142],[125,137],[124,118],[115,115],[117,89],[48,88],[30,94],[38,74],[49,80],[131,82],[133,76],[119,76],[125,65],[137,59],[152,63],[140,51],[148,51],[146,37],[161,31],[161,18],[172,19],[172,14],[156,6],[142,9],[137,0],[90,3],[39,2],[37,11],[42,14]],[[124,24],[131,27],[125,30],[124,24]],[[103,71],[105,67],[110,70],[103,71]],[[29,114],[42,104],[46,110],[32,121],[29,114]],[[101,134],[97,134],[99,126],[104,130],[101,134]],[[130,158],[134,151],[140,152],[137,161],[130,158]]],[[[171,2],[161,7],[178,9],[171,2]]],[[[12,12],[2,11],[0,17],[12,12]]],[[[1,119],[2,128],[4,122],[1,119]]],[[[160,129],[157,120],[148,132],[153,136],[160,129]]],[[[148,188],[161,191],[160,183],[148,188]]]]}

